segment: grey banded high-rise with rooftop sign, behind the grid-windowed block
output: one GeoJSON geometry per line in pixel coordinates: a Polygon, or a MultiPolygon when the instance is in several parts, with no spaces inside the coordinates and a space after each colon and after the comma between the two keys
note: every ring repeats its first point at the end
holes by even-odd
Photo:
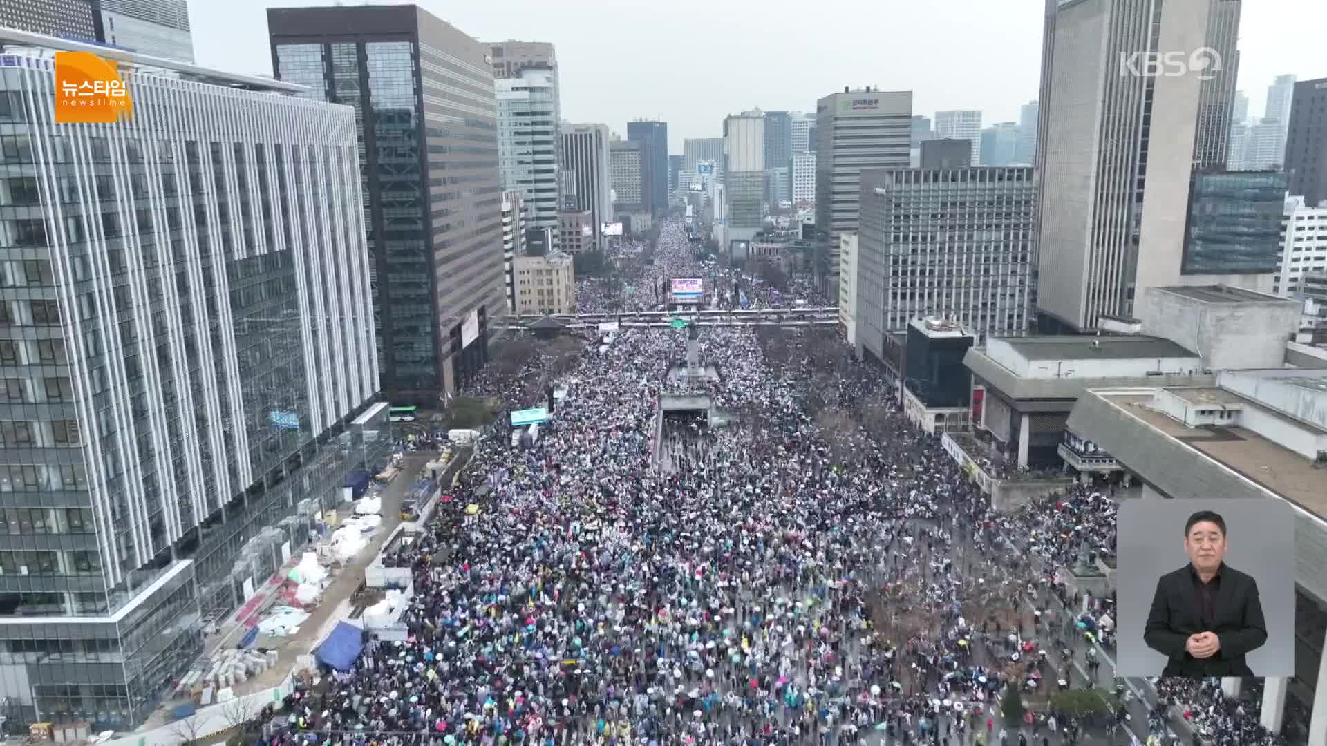
{"type": "Polygon", "coordinates": [[[816,264],[821,292],[839,287],[839,235],[857,230],[863,169],[906,169],[912,92],[872,88],[831,93],[816,102],[816,264]]]}

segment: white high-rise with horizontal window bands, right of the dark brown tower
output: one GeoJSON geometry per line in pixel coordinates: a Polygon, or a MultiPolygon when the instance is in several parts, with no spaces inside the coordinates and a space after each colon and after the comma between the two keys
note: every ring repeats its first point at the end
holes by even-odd
{"type": "MultiPolygon", "coordinates": [[[[494,81],[498,98],[498,174],[502,188],[525,198],[532,232],[557,227],[563,208],[559,162],[563,151],[553,69],[525,65],[516,77],[494,81]]],[[[555,239],[559,231],[553,231],[555,239]]],[[[557,242],[547,250],[557,248],[557,242]]]]}

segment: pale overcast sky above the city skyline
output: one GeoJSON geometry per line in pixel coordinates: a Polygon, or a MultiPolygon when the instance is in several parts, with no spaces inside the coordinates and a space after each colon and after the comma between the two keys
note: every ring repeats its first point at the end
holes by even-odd
{"type": "MultiPolygon", "coordinates": [[[[272,73],[268,7],[292,0],[190,0],[200,65],[272,73]]],[[[345,5],[364,3],[346,1],[345,5]]],[[[369,3],[398,4],[398,3],[369,3]]],[[[669,123],[682,138],[719,137],[742,109],[815,110],[843,86],[913,90],[913,113],[981,109],[983,122],[1018,119],[1036,98],[1042,0],[422,0],[483,41],[552,41],[563,115],[669,123]]],[[[1239,33],[1239,88],[1261,115],[1274,76],[1327,77],[1323,0],[1249,0],[1239,33]]]]}

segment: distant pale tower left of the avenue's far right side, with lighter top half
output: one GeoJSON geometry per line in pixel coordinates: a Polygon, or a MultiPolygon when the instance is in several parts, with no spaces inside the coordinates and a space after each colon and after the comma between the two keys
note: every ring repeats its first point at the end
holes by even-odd
{"type": "Polygon", "coordinates": [[[764,115],[730,114],[723,119],[725,199],[727,224],[719,251],[729,242],[751,240],[764,227],[764,115]]]}

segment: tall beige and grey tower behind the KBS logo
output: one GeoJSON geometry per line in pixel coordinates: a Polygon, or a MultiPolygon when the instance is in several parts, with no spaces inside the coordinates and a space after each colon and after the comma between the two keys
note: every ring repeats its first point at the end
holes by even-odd
{"type": "Polygon", "coordinates": [[[1210,151],[1197,141],[1218,138],[1200,118],[1202,102],[1216,105],[1200,88],[1225,82],[1210,64],[1161,76],[1139,61],[1204,58],[1209,20],[1230,17],[1231,1],[1173,0],[1153,13],[1147,0],[1047,0],[1036,146],[1043,332],[1095,329],[1101,316],[1132,315],[1147,288],[1204,281],[1180,273],[1182,216],[1194,154],[1210,151]]]}

